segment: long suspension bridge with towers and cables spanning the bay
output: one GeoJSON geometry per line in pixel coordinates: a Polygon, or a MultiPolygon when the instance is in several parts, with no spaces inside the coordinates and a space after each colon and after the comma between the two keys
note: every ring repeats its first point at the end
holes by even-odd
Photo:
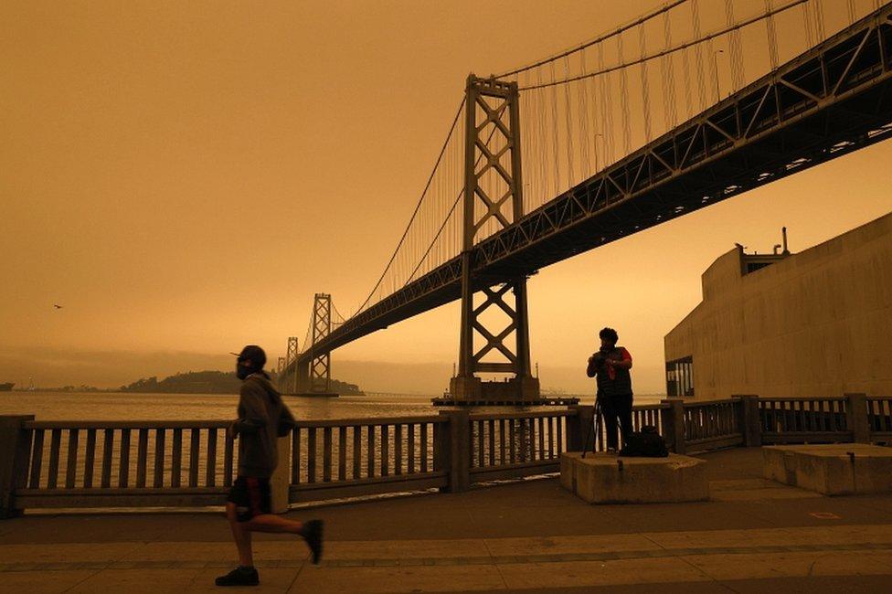
{"type": "Polygon", "coordinates": [[[535,400],[531,275],[889,138],[890,78],[877,0],[673,0],[470,75],[383,272],[349,316],[315,295],[281,387],[327,393],[336,348],[461,300],[452,397],[535,400]]]}

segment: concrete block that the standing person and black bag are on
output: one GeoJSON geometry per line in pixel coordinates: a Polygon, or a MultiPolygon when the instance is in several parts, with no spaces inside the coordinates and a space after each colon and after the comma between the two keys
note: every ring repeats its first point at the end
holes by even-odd
{"type": "Polygon", "coordinates": [[[607,453],[564,452],[560,483],[589,504],[670,504],[706,501],[706,461],[669,454],[627,458],[607,453]]]}

